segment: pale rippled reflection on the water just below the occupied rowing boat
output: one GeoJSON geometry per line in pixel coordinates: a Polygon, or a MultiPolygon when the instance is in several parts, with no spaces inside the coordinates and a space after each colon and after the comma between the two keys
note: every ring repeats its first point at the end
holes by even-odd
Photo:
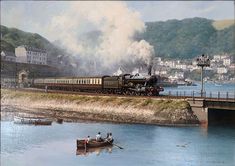
{"type": "Polygon", "coordinates": [[[76,155],[78,156],[88,156],[89,154],[96,154],[99,156],[101,153],[112,153],[113,146],[99,147],[99,148],[88,148],[88,149],[77,149],[76,155]]]}

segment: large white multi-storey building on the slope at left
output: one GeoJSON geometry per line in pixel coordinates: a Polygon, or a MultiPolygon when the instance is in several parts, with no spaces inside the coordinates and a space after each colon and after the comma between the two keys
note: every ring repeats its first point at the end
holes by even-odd
{"type": "Polygon", "coordinates": [[[43,49],[19,46],[15,49],[16,61],[31,64],[47,64],[47,52],[43,49]]]}

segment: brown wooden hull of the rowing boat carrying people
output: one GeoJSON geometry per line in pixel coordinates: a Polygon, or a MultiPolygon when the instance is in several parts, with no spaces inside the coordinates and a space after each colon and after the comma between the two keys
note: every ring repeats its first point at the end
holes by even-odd
{"type": "MultiPolygon", "coordinates": [[[[101,141],[97,142],[95,139],[92,139],[89,143],[86,143],[86,148],[98,148],[112,145],[112,141],[101,141]]],[[[77,140],[77,149],[85,149],[85,140],[77,140]]]]}

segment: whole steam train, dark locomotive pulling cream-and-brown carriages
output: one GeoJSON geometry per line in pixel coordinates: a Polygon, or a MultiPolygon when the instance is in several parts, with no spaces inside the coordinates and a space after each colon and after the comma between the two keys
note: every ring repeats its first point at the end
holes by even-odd
{"type": "Polygon", "coordinates": [[[60,77],[34,79],[33,87],[54,90],[110,93],[122,95],[157,96],[164,89],[157,85],[155,75],[148,78],[139,74],[102,77],[60,77]]]}

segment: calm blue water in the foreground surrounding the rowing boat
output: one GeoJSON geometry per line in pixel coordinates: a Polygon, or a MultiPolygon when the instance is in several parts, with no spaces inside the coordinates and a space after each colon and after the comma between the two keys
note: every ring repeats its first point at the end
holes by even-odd
{"type": "Polygon", "coordinates": [[[234,166],[235,126],[110,123],[19,125],[1,121],[1,166],[234,166]],[[112,147],[76,155],[76,139],[112,132],[112,147]]]}

